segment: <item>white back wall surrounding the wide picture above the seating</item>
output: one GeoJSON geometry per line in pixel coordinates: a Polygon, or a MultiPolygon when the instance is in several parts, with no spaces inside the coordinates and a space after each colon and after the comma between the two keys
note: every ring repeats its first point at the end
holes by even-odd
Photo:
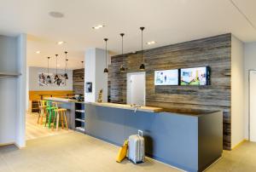
{"type": "MultiPolygon", "coordinates": [[[[46,72],[47,68],[29,67],[29,90],[42,91],[42,90],[73,90],[73,71],[67,70],[67,85],[66,86],[39,86],[38,73],[46,72]]],[[[49,69],[49,73],[55,73],[56,69],[49,69]]],[[[58,73],[65,73],[65,70],[58,69],[58,73]]]]}

